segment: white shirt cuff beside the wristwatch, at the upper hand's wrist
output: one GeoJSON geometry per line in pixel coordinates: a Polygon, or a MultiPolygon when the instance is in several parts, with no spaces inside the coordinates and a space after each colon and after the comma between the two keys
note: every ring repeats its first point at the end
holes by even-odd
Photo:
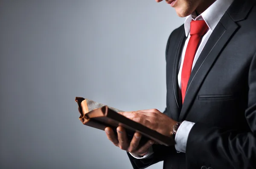
{"type": "Polygon", "coordinates": [[[186,144],[189,137],[189,132],[195,123],[190,121],[183,121],[175,135],[175,149],[178,152],[186,152],[186,144]]]}

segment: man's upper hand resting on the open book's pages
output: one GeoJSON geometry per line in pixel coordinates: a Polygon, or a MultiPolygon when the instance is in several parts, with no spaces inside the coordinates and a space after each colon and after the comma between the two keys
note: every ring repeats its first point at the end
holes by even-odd
{"type": "Polygon", "coordinates": [[[119,114],[169,137],[172,136],[172,126],[177,124],[177,121],[174,121],[157,109],[119,112],[119,114]]]}

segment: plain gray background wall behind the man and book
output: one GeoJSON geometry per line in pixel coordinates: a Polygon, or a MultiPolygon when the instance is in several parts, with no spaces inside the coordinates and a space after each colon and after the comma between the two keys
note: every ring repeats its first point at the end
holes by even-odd
{"type": "Polygon", "coordinates": [[[1,0],[0,168],[131,169],[82,125],[75,96],[163,111],[166,42],[183,20],[154,0],[1,0]]]}

